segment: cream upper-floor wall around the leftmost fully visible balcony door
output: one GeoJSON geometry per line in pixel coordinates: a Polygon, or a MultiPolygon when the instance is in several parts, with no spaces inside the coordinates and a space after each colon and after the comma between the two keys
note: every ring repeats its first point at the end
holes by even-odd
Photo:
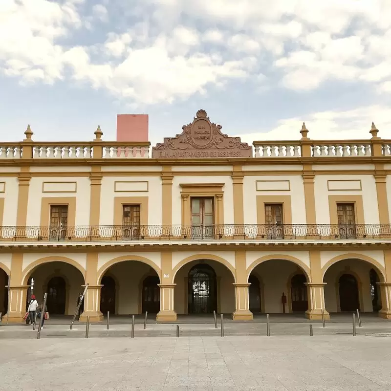
{"type": "MultiPolygon", "coordinates": [[[[41,224],[41,199],[42,197],[76,197],[75,225],[89,225],[90,205],[90,180],[87,177],[50,176],[33,177],[30,180],[27,206],[27,225],[41,224]],[[43,193],[43,182],[76,182],[77,192],[72,193],[43,193]]],[[[49,221],[47,221],[49,224],[49,221]]]]}

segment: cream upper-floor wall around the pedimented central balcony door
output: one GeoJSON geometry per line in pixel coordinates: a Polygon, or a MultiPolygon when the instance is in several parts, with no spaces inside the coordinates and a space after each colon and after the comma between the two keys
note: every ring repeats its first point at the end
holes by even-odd
{"type": "Polygon", "coordinates": [[[224,183],[224,224],[234,224],[234,193],[231,176],[174,176],[173,179],[173,225],[181,224],[180,183],[224,183]]]}

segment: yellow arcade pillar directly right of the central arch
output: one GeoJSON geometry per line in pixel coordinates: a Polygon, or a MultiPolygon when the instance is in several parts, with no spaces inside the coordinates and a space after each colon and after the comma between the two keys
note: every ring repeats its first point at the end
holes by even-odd
{"type": "Polygon", "coordinates": [[[253,314],[250,311],[247,282],[246,252],[235,251],[236,282],[235,286],[235,312],[232,314],[234,320],[252,320],[253,314]]]}

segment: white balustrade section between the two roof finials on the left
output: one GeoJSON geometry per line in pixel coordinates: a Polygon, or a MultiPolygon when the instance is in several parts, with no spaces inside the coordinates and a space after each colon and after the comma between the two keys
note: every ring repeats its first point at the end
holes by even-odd
{"type": "Polygon", "coordinates": [[[90,159],[91,146],[35,146],[33,159],[90,159]]]}

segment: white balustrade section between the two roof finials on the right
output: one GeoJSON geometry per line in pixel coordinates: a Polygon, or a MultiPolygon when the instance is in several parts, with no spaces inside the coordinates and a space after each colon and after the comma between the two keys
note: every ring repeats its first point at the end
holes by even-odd
{"type": "Polygon", "coordinates": [[[346,156],[370,156],[369,143],[349,144],[314,144],[311,146],[313,157],[346,157],[346,156]]]}

